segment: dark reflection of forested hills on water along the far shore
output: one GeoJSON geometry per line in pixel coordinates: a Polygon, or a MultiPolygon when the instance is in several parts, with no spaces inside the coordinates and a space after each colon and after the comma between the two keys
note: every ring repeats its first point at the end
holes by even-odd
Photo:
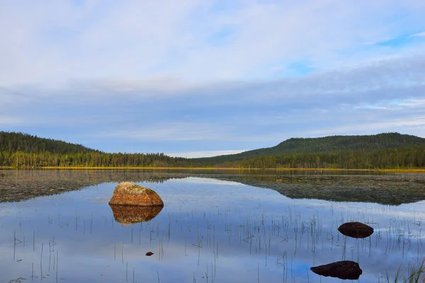
{"type": "Polygon", "coordinates": [[[123,181],[163,183],[184,178],[215,178],[265,187],[292,199],[375,202],[400,205],[425,200],[425,174],[362,171],[0,171],[0,203],[28,200],[123,181]]]}

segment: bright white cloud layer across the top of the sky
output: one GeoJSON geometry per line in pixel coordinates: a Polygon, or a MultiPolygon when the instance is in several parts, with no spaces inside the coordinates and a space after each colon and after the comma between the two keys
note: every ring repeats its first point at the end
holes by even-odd
{"type": "Polygon", "coordinates": [[[194,0],[72,3],[0,4],[0,86],[276,79],[294,61],[333,69],[422,50],[363,48],[421,25],[425,7],[413,0],[240,1],[237,8],[194,0]],[[409,16],[387,21],[400,9],[409,16]]]}

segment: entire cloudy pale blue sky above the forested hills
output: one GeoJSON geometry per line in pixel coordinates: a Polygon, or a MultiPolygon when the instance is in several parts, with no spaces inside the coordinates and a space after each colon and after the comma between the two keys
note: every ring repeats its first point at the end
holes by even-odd
{"type": "Polygon", "coordinates": [[[425,137],[425,1],[0,0],[0,130],[200,157],[425,137]]]}

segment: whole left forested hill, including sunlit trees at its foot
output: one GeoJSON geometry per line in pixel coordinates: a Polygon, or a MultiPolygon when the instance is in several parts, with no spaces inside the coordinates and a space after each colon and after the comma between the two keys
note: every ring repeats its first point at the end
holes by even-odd
{"type": "Polygon", "coordinates": [[[187,158],[164,154],[108,154],[81,144],[21,132],[0,132],[0,167],[191,167],[187,158]]]}

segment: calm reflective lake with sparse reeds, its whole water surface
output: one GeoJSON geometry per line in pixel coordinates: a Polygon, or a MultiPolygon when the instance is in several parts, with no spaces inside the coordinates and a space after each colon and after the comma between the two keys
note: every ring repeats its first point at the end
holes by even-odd
{"type": "Polygon", "coordinates": [[[340,260],[394,282],[425,258],[424,204],[421,173],[5,170],[0,282],[343,282],[310,270],[340,260]],[[114,215],[122,181],[164,208],[114,215]]]}

